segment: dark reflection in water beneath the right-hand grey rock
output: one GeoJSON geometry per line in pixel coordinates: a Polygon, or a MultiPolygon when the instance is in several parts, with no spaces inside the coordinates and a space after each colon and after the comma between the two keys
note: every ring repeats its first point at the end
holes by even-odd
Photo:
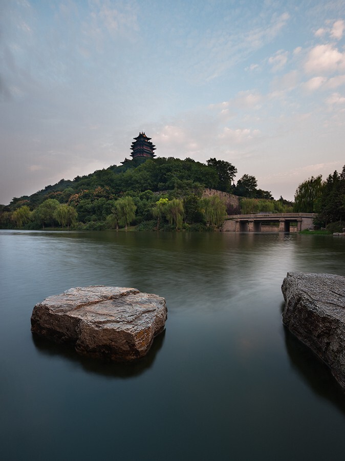
{"type": "Polygon", "coordinates": [[[332,376],[329,367],[286,327],[284,327],[284,334],[292,368],[317,395],[332,402],[345,414],[345,392],[332,376]]]}

